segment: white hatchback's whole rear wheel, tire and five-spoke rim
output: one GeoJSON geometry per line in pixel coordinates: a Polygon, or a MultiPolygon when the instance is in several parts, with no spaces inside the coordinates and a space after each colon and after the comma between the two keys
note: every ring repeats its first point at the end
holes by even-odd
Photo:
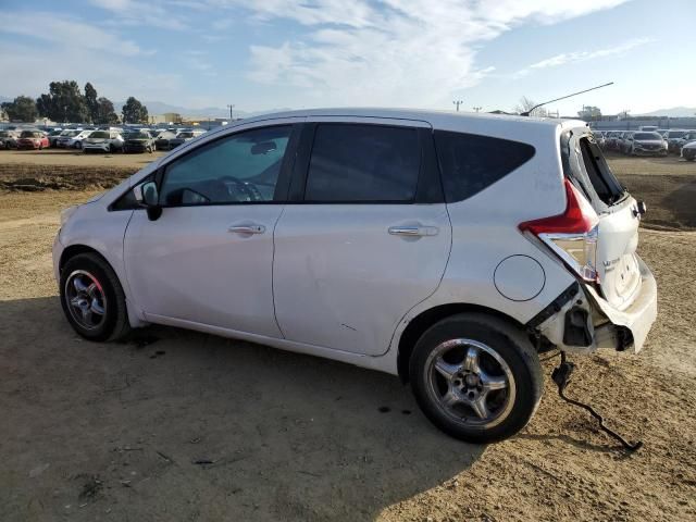
{"type": "Polygon", "coordinates": [[[538,356],[523,332],[480,313],[447,318],[413,349],[410,380],[430,421],[468,443],[493,443],[522,430],[544,385],[538,356]]]}

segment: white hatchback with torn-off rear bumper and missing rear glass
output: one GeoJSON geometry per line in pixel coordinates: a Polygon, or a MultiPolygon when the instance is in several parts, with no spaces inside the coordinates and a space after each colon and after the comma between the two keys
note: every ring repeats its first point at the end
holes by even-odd
{"type": "Polygon", "coordinates": [[[244,120],[62,215],[67,321],[159,323],[399,375],[470,442],[513,435],[538,353],[637,351],[645,211],[579,121],[396,110],[244,120]]]}

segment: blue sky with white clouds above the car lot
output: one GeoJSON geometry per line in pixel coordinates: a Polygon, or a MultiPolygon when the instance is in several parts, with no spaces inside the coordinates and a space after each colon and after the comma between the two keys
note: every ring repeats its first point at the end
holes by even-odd
{"type": "Polygon", "coordinates": [[[0,95],[188,108],[696,105],[693,0],[0,0],[0,95]]]}

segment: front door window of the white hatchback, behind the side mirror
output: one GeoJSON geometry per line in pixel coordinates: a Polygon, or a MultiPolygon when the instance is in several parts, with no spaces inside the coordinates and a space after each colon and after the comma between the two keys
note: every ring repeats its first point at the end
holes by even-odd
{"type": "Polygon", "coordinates": [[[167,167],[165,204],[273,201],[291,127],[235,134],[198,147],[167,167]]]}

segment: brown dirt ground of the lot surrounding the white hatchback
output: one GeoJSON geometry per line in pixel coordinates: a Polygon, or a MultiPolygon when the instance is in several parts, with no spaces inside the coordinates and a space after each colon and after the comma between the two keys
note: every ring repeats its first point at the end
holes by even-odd
{"type": "MultiPolygon", "coordinates": [[[[663,220],[641,235],[660,290],[647,346],[572,358],[569,395],[643,440],[634,455],[550,378],[519,436],[474,446],[436,431],[389,375],[165,327],[84,341],[50,246],[59,210],[92,182],[0,191],[0,520],[696,520],[696,233],[683,232],[696,208],[671,207],[696,165],[611,161],[632,189],[680,179],[638,195],[663,220]]],[[[86,178],[138,167],[115,163],[86,164],[86,178]]],[[[33,165],[0,153],[5,182],[8,164],[33,165]]],[[[26,169],[29,184],[44,175],[26,169]]],[[[544,364],[548,376],[556,360],[544,364]]]]}

